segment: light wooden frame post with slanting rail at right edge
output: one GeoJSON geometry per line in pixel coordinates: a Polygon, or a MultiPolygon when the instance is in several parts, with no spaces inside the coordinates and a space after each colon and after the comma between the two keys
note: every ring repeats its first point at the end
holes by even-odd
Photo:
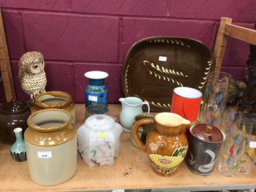
{"type": "Polygon", "coordinates": [[[220,71],[228,36],[256,45],[256,31],[232,24],[232,19],[221,17],[213,51],[215,71],[220,71]]]}

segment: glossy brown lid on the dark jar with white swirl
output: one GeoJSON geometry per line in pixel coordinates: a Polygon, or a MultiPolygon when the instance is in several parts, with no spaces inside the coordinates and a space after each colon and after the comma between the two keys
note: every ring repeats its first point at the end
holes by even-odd
{"type": "Polygon", "coordinates": [[[191,134],[201,141],[221,142],[223,134],[217,127],[210,124],[197,124],[190,129],[191,134]]]}

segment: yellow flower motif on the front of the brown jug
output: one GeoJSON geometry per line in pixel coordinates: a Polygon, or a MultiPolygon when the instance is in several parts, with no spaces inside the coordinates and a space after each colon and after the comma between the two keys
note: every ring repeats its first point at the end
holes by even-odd
{"type": "Polygon", "coordinates": [[[184,159],[181,156],[161,156],[157,154],[150,154],[149,157],[156,165],[164,168],[174,168],[184,159]]]}

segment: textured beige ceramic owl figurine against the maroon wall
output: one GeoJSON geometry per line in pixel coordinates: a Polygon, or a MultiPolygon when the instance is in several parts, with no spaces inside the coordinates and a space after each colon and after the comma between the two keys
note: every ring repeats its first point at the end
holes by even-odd
{"type": "Polygon", "coordinates": [[[19,80],[21,88],[28,93],[31,100],[45,92],[46,76],[44,72],[44,56],[41,52],[26,52],[19,61],[19,80]]]}

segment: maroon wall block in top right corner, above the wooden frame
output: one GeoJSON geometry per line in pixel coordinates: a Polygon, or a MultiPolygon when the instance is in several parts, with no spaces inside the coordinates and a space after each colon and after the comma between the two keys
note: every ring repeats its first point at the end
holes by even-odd
{"type": "Polygon", "coordinates": [[[255,19],[256,1],[172,0],[171,16],[188,19],[220,19],[230,17],[234,20],[249,21],[255,19]]]}

